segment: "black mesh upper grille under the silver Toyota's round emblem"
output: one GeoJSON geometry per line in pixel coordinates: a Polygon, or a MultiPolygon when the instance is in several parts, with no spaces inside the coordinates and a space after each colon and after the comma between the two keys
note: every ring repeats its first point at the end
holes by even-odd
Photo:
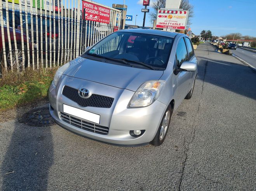
{"type": "Polygon", "coordinates": [[[89,98],[82,98],[78,95],[78,90],[69,86],[64,86],[62,94],[82,107],[103,107],[110,108],[114,98],[104,95],[92,94],[89,98]]]}

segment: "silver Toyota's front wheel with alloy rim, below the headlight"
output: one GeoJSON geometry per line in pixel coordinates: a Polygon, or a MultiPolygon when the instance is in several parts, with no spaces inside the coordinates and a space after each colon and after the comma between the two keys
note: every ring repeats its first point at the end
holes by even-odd
{"type": "Polygon", "coordinates": [[[160,126],[158,127],[157,134],[155,135],[153,140],[150,142],[151,145],[154,145],[154,146],[162,145],[169,129],[171,116],[172,116],[172,107],[171,105],[169,105],[166,111],[164,112],[164,116],[161,120],[160,126]],[[164,121],[164,119],[166,120],[164,121]]]}

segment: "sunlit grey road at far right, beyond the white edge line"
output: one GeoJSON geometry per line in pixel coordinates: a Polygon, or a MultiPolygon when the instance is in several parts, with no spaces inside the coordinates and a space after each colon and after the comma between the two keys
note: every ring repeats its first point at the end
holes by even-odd
{"type": "Polygon", "coordinates": [[[239,57],[240,59],[246,61],[254,68],[256,68],[256,53],[248,51],[246,49],[237,48],[236,50],[232,50],[232,53],[239,57]]]}

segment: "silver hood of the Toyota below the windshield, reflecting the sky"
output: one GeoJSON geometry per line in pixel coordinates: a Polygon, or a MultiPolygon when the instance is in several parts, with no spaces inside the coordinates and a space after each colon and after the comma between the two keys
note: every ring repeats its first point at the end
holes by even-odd
{"type": "Polygon", "coordinates": [[[148,80],[159,80],[163,72],[115,65],[79,56],[70,61],[70,67],[64,75],[136,91],[148,80]]]}

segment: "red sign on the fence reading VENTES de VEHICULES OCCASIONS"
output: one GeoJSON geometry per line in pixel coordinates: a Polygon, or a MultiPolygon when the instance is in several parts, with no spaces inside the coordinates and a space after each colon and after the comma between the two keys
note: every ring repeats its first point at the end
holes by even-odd
{"type": "Polygon", "coordinates": [[[82,3],[82,14],[85,20],[110,23],[110,9],[84,0],[82,3]]]}

